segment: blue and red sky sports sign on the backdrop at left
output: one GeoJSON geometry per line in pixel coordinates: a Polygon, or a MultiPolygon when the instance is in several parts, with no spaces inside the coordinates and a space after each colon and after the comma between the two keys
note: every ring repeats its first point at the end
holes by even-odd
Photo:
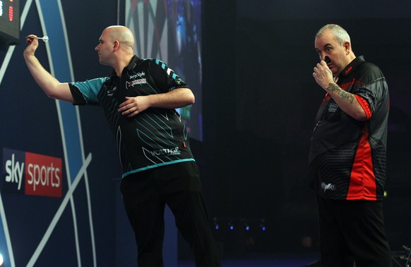
{"type": "Polygon", "coordinates": [[[61,197],[60,158],[4,148],[2,169],[2,193],[61,197]]]}

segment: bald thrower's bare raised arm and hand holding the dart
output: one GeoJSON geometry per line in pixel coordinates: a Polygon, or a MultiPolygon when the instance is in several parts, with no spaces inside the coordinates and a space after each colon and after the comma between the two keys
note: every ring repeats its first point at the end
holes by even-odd
{"type": "Polygon", "coordinates": [[[73,103],[74,99],[70,87],[68,87],[68,83],[59,82],[59,80],[44,69],[40,61],[35,57],[35,51],[39,46],[37,36],[28,35],[26,42],[28,43],[28,46],[23,52],[25,63],[27,64],[32,77],[37,82],[37,85],[43,89],[44,93],[47,94],[47,97],[73,103]]]}

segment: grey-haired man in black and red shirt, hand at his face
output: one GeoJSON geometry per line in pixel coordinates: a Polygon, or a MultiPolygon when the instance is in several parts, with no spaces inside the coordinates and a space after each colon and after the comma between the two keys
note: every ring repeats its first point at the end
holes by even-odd
{"type": "Polygon", "coordinates": [[[339,25],[316,34],[314,79],[326,97],[311,137],[323,266],[392,266],[383,223],[389,96],[374,64],[339,25]]]}

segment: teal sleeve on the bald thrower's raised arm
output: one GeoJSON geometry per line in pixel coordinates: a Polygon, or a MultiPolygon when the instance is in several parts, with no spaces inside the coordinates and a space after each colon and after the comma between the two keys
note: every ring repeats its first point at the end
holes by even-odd
{"type": "Polygon", "coordinates": [[[98,105],[98,94],[108,77],[95,78],[85,82],[71,82],[69,87],[73,95],[74,105],[98,105]]]}

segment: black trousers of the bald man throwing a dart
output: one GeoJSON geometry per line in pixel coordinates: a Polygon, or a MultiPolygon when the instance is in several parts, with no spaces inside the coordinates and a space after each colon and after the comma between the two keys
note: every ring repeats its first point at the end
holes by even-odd
{"type": "Polygon", "coordinates": [[[139,267],[163,266],[165,205],[189,242],[196,266],[220,266],[194,161],[129,175],[121,181],[121,193],[136,237],[139,267]]]}

